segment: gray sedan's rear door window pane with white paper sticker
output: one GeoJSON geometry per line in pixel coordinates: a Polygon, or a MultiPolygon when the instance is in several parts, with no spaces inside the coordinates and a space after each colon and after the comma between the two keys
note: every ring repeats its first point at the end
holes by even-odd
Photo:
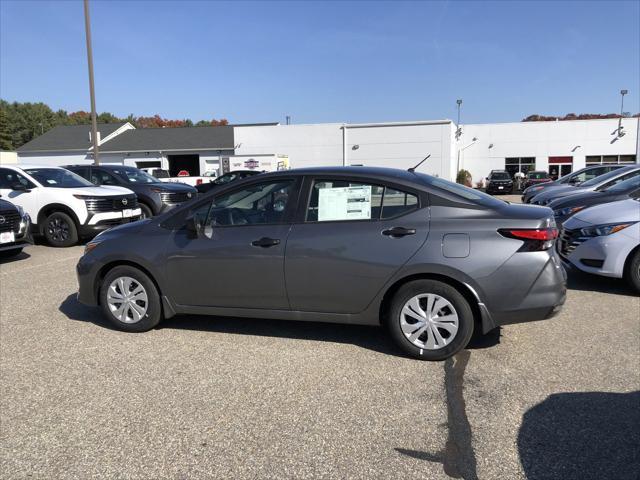
{"type": "Polygon", "coordinates": [[[346,180],[318,180],[311,189],[307,222],[377,220],[384,187],[346,180]]]}

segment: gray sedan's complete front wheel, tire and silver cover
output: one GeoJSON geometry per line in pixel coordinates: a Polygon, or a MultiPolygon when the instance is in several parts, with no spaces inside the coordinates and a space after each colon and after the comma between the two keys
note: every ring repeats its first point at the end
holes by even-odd
{"type": "Polygon", "coordinates": [[[100,306],[120,330],[145,332],[160,322],[160,295],[151,279],[130,266],[115,267],[100,287],[100,306]]]}

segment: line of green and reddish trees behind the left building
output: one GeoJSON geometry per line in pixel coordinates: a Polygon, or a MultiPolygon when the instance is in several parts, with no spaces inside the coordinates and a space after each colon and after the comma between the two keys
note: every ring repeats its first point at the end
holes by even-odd
{"type": "MultiPolygon", "coordinates": [[[[126,118],[118,118],[109,112],[98,114],[98,123],[122,122],[129,122],[136,128],[206,127],[229,124],[225,118],[200,120],[194,123],[188,118],[170,120],[162,118],[160,115],[136,117],[131,114],[126,118]]],[[[91,124],[91,114],[89,112],[53,111],[47,104],[42,102],[21,103],[7,102],[0,99],[0,150],[15,150],[59,125],[89,124],[91,124]]]]}

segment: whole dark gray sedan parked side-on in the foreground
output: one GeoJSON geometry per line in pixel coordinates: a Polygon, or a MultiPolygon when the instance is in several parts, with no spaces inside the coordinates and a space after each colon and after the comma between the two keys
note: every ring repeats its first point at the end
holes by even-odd
{"type": "Polygon", "coordinates": [[[421,173],[288,170],[102,233],[78,299],[136,332],[176,314],[384,324],[407,354],[440,360],[474,330],[559,310],[556,236],[549,208],[421,173]]]}

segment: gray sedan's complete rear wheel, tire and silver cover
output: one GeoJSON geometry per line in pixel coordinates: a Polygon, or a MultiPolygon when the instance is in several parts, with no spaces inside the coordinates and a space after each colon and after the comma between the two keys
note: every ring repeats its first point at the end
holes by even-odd
{"type": "Polygon", "coordinates": [[[437,280],[416,280],[393,297],[387,328],[400,348],[421,360],[444,360],[473,335],[469,303],[454,287],[437,280]]]}

